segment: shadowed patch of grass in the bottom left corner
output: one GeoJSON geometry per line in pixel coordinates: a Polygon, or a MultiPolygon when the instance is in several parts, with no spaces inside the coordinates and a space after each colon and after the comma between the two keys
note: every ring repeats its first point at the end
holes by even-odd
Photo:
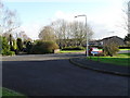
{"type": "Polygon", "coordinates": [[[2,87],[0,90],[2,90],[2,96],[3,97],[10,97],[10,96],[21,96],[22,98],[27,98],[25,95],[22,95],[20,93],[16,93],[14,90],[11,90],[11,89],[8,89],[8,88],[4,88],[2,87]]]}

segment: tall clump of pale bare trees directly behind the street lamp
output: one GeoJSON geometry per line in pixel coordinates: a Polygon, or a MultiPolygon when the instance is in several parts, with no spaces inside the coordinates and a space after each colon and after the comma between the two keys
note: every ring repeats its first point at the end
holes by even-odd
{"type": "Polygon", "coordinates": [[[65,20],[57,20],[51,25],[57,38],[57,44],[63,47],[72,45],[83,46],[87,40],[87,33],[89,39],[93,35],[92,28],[88,25],[86,28],[82,22],[66,22],[65,20]]]}

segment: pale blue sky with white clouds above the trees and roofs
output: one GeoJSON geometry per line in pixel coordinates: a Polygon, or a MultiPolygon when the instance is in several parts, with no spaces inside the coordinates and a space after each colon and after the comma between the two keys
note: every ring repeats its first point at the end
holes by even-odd
{"type": "Polygon", "coordinates": [[[109,36],[123,38],[122,29],[125,0],[4,0],[5,7],[16,10],[21,19],[21,29],[32,39],[38,38],[42,26],[56,19],[82,21],[75,15],[86,14],[88,24],[93,28],[93,39],[109,36]]]}

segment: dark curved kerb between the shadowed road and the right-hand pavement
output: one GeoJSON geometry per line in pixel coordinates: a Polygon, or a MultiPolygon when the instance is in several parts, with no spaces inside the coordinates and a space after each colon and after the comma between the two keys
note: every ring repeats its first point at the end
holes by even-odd
{"type": "MultiPolygon", "coordinates": [[[[91,68],[90,65],[83,65],[79,62],[76,62],[73,60],[74,58],[69,59],[69,62],[74,65],[80,66],[82,69],[88,69],[88,70],[92,70],[92,71],[96,71],[96,72],[101,72],[101,73],[106,73],[106,74],[113,74],[113,75],[119,75],[119,76],[130,76],[129,73],[120,73],[120,72],[114,72],[114,71],[107,71],[107,70],[101,70],[101,69],[96,69],[96,68],[91,68]]],[[[76,59],[76,58],[75,58],[76,59]]],[[[78,58],[77,58],[78,59],[78,58]]]]}

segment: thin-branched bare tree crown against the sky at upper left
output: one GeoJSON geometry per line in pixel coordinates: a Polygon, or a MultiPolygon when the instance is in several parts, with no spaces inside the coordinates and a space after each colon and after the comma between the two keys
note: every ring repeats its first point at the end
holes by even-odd
{"type": "Polygon", "coordinates": [[[0,1],[0,33],[12,33],[20,26],[16,11],[11,11],[0,1]]]}

